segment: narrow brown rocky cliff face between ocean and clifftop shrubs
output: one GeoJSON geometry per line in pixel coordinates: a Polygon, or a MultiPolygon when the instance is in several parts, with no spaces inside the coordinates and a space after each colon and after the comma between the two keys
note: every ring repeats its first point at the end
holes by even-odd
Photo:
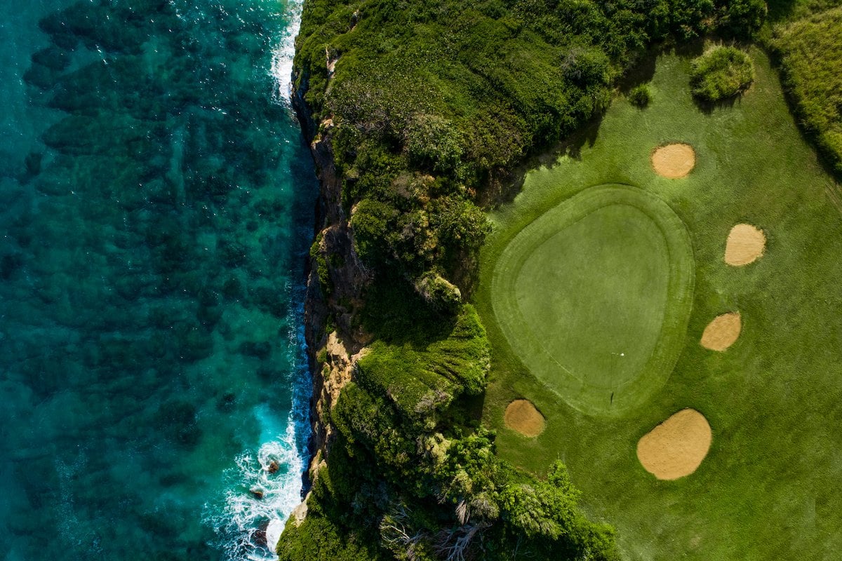
{"type": "Polygon", "coordinates": [[[332,119],[317,123],[304,101],[306,80],[293,92],[301,129],[316,163],[320,193],[316,205],[315,242],[307,273],[305,335],[313,380],[311,479],[328,457],[333,427],[325,413],[351,379],[357,361],[365,354],[369,336],[354,316],[370,275],[354,251],[353,231],[342,205],[342,180],[338,177],[331,145],[332,119]],[[322,274],[320,275],[320,267],[322,274]],[[325,277],[325,273],[327,277],[325,277]]]}

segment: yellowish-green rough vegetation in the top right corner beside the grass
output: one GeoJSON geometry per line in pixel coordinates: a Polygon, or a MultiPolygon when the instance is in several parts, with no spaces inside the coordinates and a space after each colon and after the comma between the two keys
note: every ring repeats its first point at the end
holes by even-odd
{"type": "Polygon", "coordinates": [[[772,46],[798,117],[842,176],[842,6],[781,24],[772,46]]]}

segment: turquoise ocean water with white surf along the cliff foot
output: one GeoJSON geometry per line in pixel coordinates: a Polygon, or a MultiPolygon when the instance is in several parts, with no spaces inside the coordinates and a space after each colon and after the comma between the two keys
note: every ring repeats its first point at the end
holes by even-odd
{"type": "Polygon", "coordinates": [[[299,10],[0,3],[0,558],[272,558],[309,431],[299,10]]]}

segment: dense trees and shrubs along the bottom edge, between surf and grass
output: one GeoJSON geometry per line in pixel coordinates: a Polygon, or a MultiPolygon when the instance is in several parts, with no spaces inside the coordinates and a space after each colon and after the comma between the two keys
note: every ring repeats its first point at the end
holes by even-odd
{"type": "Polygon", "coordinates": [[[562,463],[530,478],[498,458],[488,431],[420,429],[354,383],[331,420],[338,435],[306,521],[281,536],[284,561],[617,559],[613,531],[584,516],[562,463]]]}

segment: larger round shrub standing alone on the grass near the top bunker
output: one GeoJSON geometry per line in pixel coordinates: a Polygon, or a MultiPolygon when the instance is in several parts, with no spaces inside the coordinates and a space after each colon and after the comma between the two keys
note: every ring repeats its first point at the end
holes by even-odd
{"type": "Polygon", "coordinates": [[[690,87],[705,101],[720,101],[744,92],[754,82],[749,56],[734,47],[718,46],[693,59],[690,87]]]}

